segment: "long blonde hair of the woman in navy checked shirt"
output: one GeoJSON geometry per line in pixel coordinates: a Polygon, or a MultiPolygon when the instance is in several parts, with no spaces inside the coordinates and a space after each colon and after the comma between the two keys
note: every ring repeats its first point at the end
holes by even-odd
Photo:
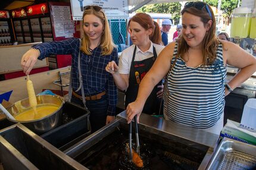
{"type": "MultiPolygon", "coordinates": [[[[101,19],[101,22],[103,24],[103,33],[101,36],[101,55],[110,55],[115,45],[112,39],[110,26],[108,24],[108,19],[106,17],[106,14],[104,13],[103,10],[95,11],[93,8],[89,8],[88,10],[85,10],[83,12],[83,18],[85,17],[85,15],[89,15],[89,14],[93,14],[96,17],[101,19]]],[[[89,43],[90,43],[89,37],[83,31],[82,46],[80,49],[84,53],[91,55],[92,53],[89,51],[89,43]]]]}

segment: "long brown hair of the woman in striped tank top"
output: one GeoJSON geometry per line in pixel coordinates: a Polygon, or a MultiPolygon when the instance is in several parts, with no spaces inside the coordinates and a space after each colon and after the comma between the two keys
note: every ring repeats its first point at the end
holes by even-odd
{"type": "MultiPolygon", "coordinates": [[[[214,60],[217,58],[216,49],[219,43],[217,37],[215,36],[216,20],[214,18],[213,10],[205,2],[196,1],[191,3],[203,3],[201,4],[203,6],[200,10],[198,10],[195,4],[193,4],[191,7],[188,7],[188,8],[186,8],[186,4],[185,4],[185,7],[181,12],[182,15],[185,12],[188,12],[189,14],[192,14],[192,15],[196,15],[201,18],[201,21],[202,23],[204,23],[204,26],[206,26],[209,20],[213,21],[213,24],[211,25],[210,29],[207,31],[204,39],[202,40],[202,55],[203,55],[202,64],[203,65],[213,64],[214,60]]],[[[183,38],[183,35],[181,34],[180,39],[178,40],[178,51],[177,51],[176,58],[178,58],[179,56],[184,56],[185,53],[188,52],[188,50],[189,50],[189,46],[186,43],[185,39],[183,38]]]]}

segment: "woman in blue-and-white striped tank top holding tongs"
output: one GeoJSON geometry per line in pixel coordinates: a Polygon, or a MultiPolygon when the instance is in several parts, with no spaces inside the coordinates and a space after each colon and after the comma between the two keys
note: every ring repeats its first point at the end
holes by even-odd
{"type": "Polygon", "coordinates": [[[155,84],[166,77],[164,117],[179,124],[220,134],[224,96],[256,71],[256,59],[234,43],[218,40],[213,10],[204,2],[187,2],[182,10],[182,34],[158,56],[145,75],[135,102],[127,106],[127,121],[141,114],[155,84]],[[241,68],[229,82],[226,64],[241,68]]]}

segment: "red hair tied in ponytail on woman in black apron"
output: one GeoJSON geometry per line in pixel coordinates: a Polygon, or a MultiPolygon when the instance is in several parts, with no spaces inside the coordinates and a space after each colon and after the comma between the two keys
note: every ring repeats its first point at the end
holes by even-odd
{"type": "Polygon", "coordinates": [[[149,35],[149,39],[153,43],[156,43],[159,45],[162,44],[160,26],[158,25],[157,22],[152,20],[150,15],[145,14],[143,12],[135,14],[132,18],[130,18],[128,22],[128,27],[130,26],[131,21],[139,23],[145,30],[152,29],[153,31],[149,35]]]}

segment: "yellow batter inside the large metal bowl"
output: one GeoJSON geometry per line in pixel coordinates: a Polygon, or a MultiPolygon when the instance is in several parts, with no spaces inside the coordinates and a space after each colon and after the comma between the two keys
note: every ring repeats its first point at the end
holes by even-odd
{"type": "Polygon", "coordinates": [[[57,105],[52,104],[37,105],[35,108],[36,111],[34,111],[33,108],[30,108],[28,111],[24,111],[18,115],[15,115],[14,118],[17,121],[33,121],[52,114],[53,112],[57,111],[58,108],[59,107],[57,105]]]}

